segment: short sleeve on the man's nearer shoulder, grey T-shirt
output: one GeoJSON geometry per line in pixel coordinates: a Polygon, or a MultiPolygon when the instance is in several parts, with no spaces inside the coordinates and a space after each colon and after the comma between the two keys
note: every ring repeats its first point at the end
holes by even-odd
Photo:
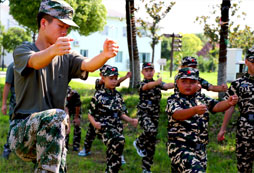
{"type": "Polygon", "coordinates": [[[29,58],[35,53],[32,50],[31,43],[26,43],[18,46],[13,52],[15,71],[21,76],[25,76],[32,71],[31,68],[27,67],[29,58]]]}

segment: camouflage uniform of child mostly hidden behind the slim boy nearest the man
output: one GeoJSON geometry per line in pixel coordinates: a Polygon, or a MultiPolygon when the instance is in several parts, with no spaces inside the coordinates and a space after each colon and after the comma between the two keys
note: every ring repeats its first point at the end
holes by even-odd
{"type": "MultiPolygon", "coordinates": [[[[110,67],[111,66],[107,65],[107,64],[103,65],[100,68],[100,73],[104,73],[105,70],[107,68],[110,68],[110,67]]],[[[104,84],[100,84],[100,79],[96,79],[95,89],[96,89],[96,91],[104,89],[104,84]]],[[[91,151],[92,143],[93,143],[95,137],[96,137],[95,128],[93,127],[93,125],[91,123],[89,123],[88,129],[87,129],[87,132],[86,132],[86,138],[85,138],[85,141],[84,141],[84,148],[86,150],[86,153],[91,151]]],[[[100,135],[98,137],[101,138],[100,135]]]]}

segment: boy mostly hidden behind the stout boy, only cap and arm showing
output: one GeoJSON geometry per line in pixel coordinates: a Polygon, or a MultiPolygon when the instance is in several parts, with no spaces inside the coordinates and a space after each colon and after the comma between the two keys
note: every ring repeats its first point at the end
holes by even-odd
{"type": "MultiPolygon", "coordinates": [[[[182,59],[182,65],[181,68],[185,67],[192,67],[197,68],[197,59],[191,56],[186,56],[182,59]]],[[[208,81],[206,81],[203,78],[198,79],[200,85],[202,88],[206,89],[207,91],[213,91],[213,92],[226,92],[228,89],[228,86],[226,84],[222,84],[221,86],[215,86],[210,84],[208,81]]]]}

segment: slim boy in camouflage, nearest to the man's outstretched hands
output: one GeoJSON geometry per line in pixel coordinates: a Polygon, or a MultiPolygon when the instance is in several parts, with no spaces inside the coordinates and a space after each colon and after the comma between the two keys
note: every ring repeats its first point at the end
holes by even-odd
{"type": "Polygon", "coordinates": [[[103,143],[107,146],[106,172],[118,172],[121,167],[125,138],[123,125],[120,119],[129,122],[134,127],[138,120],[129,118],[127,108],[121,94],[115,90],[118,84],[118,70],[116,67],[107,68],[102,72],[104,88],[97,90],[90,103],[88,118],[101,135],[103,143]]]}

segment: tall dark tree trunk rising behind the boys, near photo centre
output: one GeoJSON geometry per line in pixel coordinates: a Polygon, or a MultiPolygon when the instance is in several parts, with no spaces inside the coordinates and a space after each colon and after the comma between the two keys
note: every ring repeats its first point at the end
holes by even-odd
{"type": "Polygon", "coordinates": [[[140,82],[140,62],[136,40],[137,30],[135,26],[134,9],[134,0],[126,0],[127,41],[130,60],[130,71],[132,72],[129,88],[135,88],[140,82]]]}

